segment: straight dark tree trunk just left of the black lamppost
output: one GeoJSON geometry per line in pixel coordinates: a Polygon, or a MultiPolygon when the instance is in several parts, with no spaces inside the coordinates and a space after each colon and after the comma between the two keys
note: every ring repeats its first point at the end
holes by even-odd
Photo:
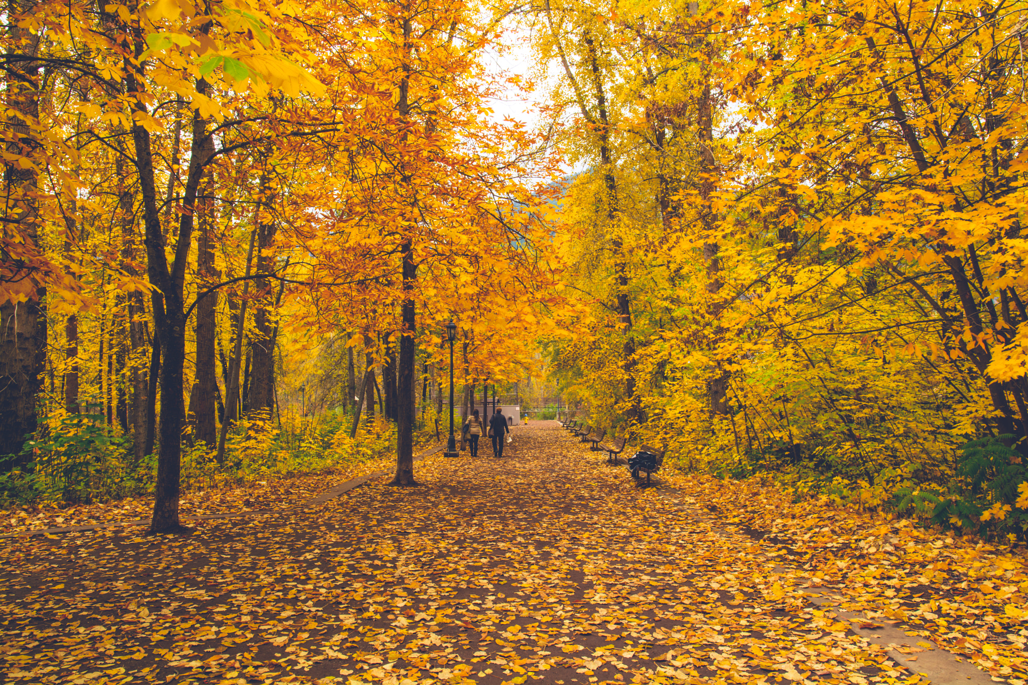
{"type": "Polygon", "coordinates": [[[400,317],[403,333],[400,336],[400,358],[397,365],[398,415],[396,422],[396,475],[393,485],[416,485],[414,482],[414,364],[416,350],[414,334],[416,320],[414,312],[414,278],[417,266],[414,264],[410,239],[400,246],[403,256],[403,304],[400,317]]]}

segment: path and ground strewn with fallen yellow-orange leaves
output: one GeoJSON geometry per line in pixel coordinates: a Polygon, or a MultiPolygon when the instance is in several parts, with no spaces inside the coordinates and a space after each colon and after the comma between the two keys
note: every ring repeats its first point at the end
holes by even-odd
{"type": "MultiPolygon", "coordinates": [[[[554,423],[302,510],[7,540],[19,683],[918,682],[804,593],[1024,677],[1020,560],[755,484],[638,488],[554,423]],[[870,538],[870,539],[869,539],[870,538]],[[962,642],[961,642],[962,641],[962,642]]],[[[326,483],[329,487],[331,483],[326,483]]],[[[1028,588],[1028,583],[1025,583],[1028,588]]],[[[985,674],[983,674],[985,675],[985,674]]],[[[923,682],[923,681],[921,681],[923,682]]]]}

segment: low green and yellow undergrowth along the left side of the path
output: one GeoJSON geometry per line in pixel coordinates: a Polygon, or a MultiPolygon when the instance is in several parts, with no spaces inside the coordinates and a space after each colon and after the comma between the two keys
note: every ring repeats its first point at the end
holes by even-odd
{"type": "MultiPolygon", "coordinates": [[[[376,415],[350,436],[353,417],[266,416],[236,422],[221,463],[206,443],[182,449],[183,490],[208,490],[345,468],[389,455],[396,425],[376,415]]],[[[12,504],[103,502],[152,492],[156,456],[135,457],[131,440],[102,414],[51,417],[47,429],[26,443],[21,458],[0,457],[0,507],[12,504]],[[19,465],[20,464],[20,465],[19,465]]],[[[415,435],[428,439],[428,434],[415,435]]]]}

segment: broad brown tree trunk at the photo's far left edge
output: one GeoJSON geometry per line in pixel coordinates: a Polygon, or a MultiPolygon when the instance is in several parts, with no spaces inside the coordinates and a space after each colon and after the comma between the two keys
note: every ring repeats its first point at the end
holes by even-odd
{"type": "MultiPolygon", "coordinates": [[[[6,151],[26,158],[33,157],[38,148],[33,126],[39,120],[40,65],[35,58],[39,54],[42,32],[23,29],[19,21],[22,14],[31,14],[34,6],[31,0],[11,0],[5,22],[10,26],[6,103],[11,135],[6,151]]],[[[4,186],[3,219],[14,227],[24,241],[26,256],[31,257],[39,250],[36,166],[5,164],[4,186]]],[[[26,302],[0,303],[0,452],[21,455],[25,436],[36,429],[36,394],[46,360],[45,291],[34,289],[32,274],[22,271],[16,264],[0,263],[0,268],[11,280],[11,287],[28,296],[26,302]]],[[[25,463],[27,459],[26,456],[15,462],[25,463]]]]}

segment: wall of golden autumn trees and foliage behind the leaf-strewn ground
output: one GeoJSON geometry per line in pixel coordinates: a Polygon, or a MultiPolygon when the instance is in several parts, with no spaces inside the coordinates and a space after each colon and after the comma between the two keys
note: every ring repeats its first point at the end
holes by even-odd
{"type": "Polygon", "coordinates": [[[12,2],[6,496],[410,484],[453,320],[465,405],[546,371],[681,468],[1023,537],[1025,10],[12,2]]]}

